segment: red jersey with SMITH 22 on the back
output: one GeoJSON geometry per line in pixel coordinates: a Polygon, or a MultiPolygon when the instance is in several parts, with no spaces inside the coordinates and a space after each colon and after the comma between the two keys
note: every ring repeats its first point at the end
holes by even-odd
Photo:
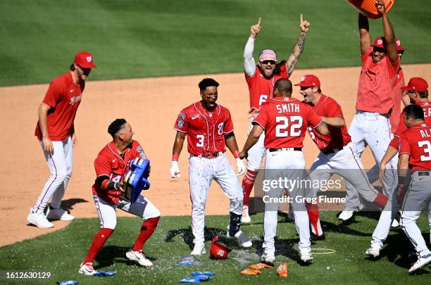
{"type": "Polygon", "coordinates": [[[265,129],[266,148],[301,148],[308,125],[323,120],[311,106],[292,97],[275,97],[263,103],[254,123],[265,129]]]}

